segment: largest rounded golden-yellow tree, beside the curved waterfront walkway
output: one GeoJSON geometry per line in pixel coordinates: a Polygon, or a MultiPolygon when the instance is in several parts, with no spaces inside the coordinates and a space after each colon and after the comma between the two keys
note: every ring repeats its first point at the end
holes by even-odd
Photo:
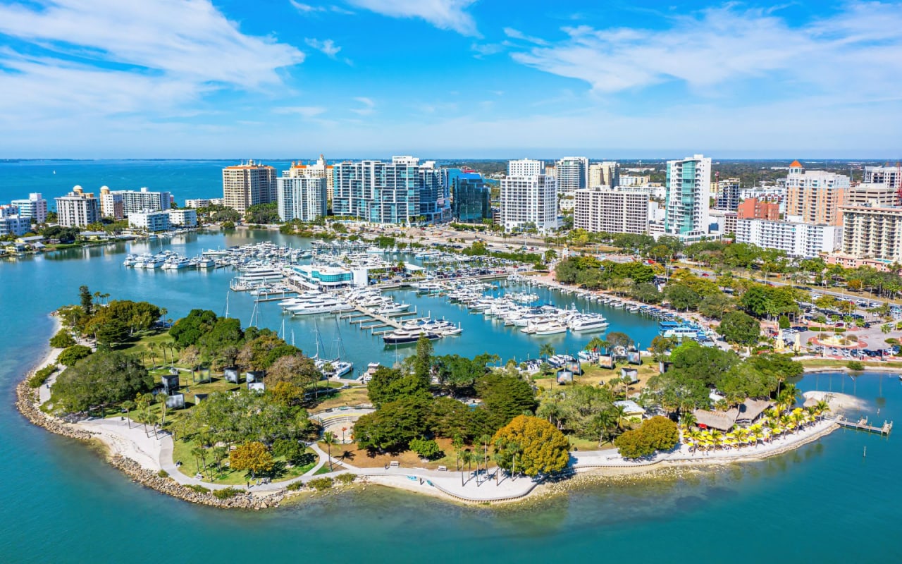
{"type": "Polygon", "coordinates": [[[513,418],[495,433],[492,443],[499,467],[512,470],[517,453],[518,466],[527,476],[559,472],[570,458],[564,433],[548,421],[528,415],[513,418]]]}

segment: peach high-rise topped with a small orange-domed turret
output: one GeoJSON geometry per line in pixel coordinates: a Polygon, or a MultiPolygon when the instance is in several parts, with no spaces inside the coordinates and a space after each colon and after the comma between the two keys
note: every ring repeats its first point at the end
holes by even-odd
{"type": "Polygon", "coordinates": [[[798,161],[787,175],[787,216],[805,223],[842,226],[840,208],[846,204],[849,177],[828,171],[805,171],[798,161]]]}

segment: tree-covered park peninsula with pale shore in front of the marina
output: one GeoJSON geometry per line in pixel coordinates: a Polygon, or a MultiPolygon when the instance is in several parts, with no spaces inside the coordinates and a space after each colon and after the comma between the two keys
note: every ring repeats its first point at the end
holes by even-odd
{"type": "Polygon", "coordinates": [[[424,336],[348,382],[324,375],[333,361],[209,310],[170,323],[157,305],[83,286],[53,317],[19,410],[100,440],[136,482],[219,507],[354,483],[510,502],[574,476],[773,456],[838,428],[832,409],[854,401],[804,398],[787,383],[804,371],[790,355],[675,337],[640,351],[611,332],[563,360],[546,344],[527,365],[492,351],[437,356],[424,336]]]}

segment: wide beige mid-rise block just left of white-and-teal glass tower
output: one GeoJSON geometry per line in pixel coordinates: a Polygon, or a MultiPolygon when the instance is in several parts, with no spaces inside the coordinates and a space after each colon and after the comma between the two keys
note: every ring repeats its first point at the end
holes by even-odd
{"type": "Polygon", "coordinates": [[[594,233],[649,232],[649,192],[586,188],[576,190],[573,227],[594,233]]]}

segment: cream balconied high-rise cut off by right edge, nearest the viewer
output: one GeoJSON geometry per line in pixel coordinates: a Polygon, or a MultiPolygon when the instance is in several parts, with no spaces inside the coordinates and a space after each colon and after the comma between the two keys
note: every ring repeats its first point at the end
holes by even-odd
{"type": "Polygon", "coordinates": [[[842,251],[902,263],[902,208],[842,208],[842,251]]]}

